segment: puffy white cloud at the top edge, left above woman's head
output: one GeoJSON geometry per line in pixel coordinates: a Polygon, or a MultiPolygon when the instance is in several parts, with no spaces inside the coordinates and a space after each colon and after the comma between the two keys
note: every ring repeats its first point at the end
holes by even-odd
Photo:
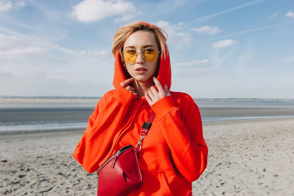
{"type": "MultiPolygon", "coordinates": [[[[136,7],[130,2],[119,1],[103,1],[103,0],[83,0],[72,7],[72,12],[69,16],[73,19],[84,22],[92,23],[102,20],[107,17],[114,17],[120,15],[124,20],[129,20],[135,17],[137,13],[136,7]]],[[[116,19],[119,20],[119,19],[116,19]]]]}

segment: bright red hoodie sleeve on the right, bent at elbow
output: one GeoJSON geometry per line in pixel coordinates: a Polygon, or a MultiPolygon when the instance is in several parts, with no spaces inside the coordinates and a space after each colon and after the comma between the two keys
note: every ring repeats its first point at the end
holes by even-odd
{"type": "Polygon", "coordinates": [[[151,109],[159,117],[176,168],[188,181],[193,182],[207,167],[208,147],[203,138],[198,106],[192,98],[185,104],[190,105],[183,120],[172,96],[160,99],[151,109]]]}

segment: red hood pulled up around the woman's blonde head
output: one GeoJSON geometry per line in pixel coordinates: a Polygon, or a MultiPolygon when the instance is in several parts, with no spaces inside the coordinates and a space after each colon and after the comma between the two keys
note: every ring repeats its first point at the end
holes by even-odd
{"type": "MultiPolygon", "coordinates": [[[[145,22],[142,22],[145,23],[145,22]]],[[[147,25],[150,25],[146,23],[147,25]]],[[[160,58],[160,64],[159,64],[159,72],[157,79],[160,81],[161,85],[164,87],[165,85],[168,86],[168,89],[170,90],[172,85],[172,69],[171,69],[171,60],[170,60],[170,54],[167,50],[167,55],[165,57],[160,58]]],[[[131,76],[128,74],[127,70],[123,68],[123,65],[121,63],[121,55],[118,53],[115,57],[114,62],[114,78],[113,78],[113,86],[114,88],[118,88],[119,85],[121,85],[121,82],[124,80],[130,78],[131,76]]],[[[156,88],[156,86],[155,86],[156,88]]]]}

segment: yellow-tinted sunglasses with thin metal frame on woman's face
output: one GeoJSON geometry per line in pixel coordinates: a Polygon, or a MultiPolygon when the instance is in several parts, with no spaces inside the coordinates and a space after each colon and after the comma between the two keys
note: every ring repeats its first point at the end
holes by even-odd
{"type": "Polygon", "coordinates": [[[132,63],[137,59],[137,56],[141,51],[143,58],[148,62],[154,62],[158,58],[158,54],[160,52],[156,49],[125,49],[122,51],[122,59],[126,63],[132,63]]]}

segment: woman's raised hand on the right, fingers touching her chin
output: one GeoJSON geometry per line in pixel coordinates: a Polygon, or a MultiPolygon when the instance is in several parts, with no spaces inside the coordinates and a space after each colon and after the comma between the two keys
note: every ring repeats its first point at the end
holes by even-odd
{"type": "Polygon", "coordinates": [[[151,86],[148,93],[145,92],[145,98],[150,106],[159,101],[161,98],[171,95],[167,85],[163,88],[156,77],[153,77],[153,81],[156,84],[158,91],[154,86],[151,86]]]}

